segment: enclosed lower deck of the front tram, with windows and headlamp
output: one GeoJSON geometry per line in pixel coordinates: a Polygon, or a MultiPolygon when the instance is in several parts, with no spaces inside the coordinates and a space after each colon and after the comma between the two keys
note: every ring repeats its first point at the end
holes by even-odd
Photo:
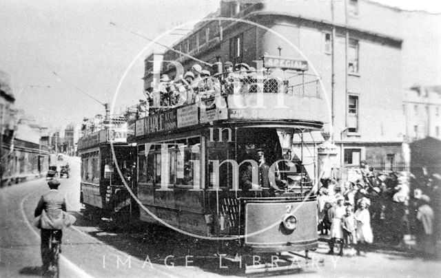
{"type": "Polygon", "coordinates": [[[281,144],[301,133],[229,125],[216,139],[205,128],[139,140],[140,219],[260,253],[316,248],[312,158],[281,144]]]}

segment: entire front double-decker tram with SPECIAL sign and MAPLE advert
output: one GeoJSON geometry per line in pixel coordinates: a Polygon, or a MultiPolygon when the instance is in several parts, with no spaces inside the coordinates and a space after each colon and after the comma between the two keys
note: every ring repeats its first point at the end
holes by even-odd
{"type": "MultiPolygon", "coordinates": [[[[294,84],[274,72],[231,84],[212,76],[214,92],[136,120],[128,140],[136,143],[141,220],[236,242],[244,254],[283,259],[317,247],[310,134],[322,129],[325,105],[318,81],[305,83],[301,72],[294,84]]],[[[266,263],[247,272],[274,261],[266,263]]]]}

